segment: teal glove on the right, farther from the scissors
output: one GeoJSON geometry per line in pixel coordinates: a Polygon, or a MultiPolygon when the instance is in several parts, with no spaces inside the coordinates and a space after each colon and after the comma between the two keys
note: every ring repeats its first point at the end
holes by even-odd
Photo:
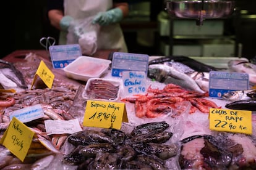
{"type": "Polygon", "coordinates": [[[110,23],[116,23],[122,20],[122,10],[117,8],[108,10],[106,12],[99,12],[92,23],[98,23],[99,25],[109,25],[110,23]]]}

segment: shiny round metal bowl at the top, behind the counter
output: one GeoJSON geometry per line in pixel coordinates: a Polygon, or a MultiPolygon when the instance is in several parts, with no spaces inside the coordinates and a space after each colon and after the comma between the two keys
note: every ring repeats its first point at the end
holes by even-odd
{"type": "Polygon", "coordinates": [[[166,10],[170,17],[195,18],[226,18],[233,14],[234,1],[172,1],[166,0],[166,10]]]}

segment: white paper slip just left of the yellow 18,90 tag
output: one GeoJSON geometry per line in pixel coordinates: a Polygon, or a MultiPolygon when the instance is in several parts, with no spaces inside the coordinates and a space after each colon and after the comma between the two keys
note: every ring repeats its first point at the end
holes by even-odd
{"type": "Polygon", "coordinates": [[[48,135],[51,134],[74,134],[82,131],[78,119],[70,120],[45,120],[45,129],[48,135]]]}

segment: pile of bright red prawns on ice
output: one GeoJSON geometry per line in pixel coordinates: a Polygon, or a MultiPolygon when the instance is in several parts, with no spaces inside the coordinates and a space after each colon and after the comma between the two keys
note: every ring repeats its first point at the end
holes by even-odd
{"type": "Polygon", "coordinates": [[[135,115],[139,118],[158,118],[167,113],[174,112],[172,116],[182,113],[179,110],[182,102],[190,102],[189,113],[199,110],[202,113],[209,113],[210,108],[220,108],[215,102],[206,99],[208,92],[200,93],[188,91],[176,84],[166,84],[163,89],[147,89],[147,94],[134,94],[132,97],[121,99],[122,102],[134,103],[135,115]]]}

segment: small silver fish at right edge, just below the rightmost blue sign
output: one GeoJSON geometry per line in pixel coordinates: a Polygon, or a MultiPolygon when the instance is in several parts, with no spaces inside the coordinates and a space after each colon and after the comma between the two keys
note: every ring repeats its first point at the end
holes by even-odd
{"type": "Polygon", "coordinates": [[[221,95],[221,97],[225,100],[229,101],[238,101],[238,100],[247,100],[251,99],[252,97],[248,96],[247,94],[251,94],[250,92],[255,92],[255,89],[249,90],[241,90],[241,91],[229,91],[225,92],[221,95]]]}

